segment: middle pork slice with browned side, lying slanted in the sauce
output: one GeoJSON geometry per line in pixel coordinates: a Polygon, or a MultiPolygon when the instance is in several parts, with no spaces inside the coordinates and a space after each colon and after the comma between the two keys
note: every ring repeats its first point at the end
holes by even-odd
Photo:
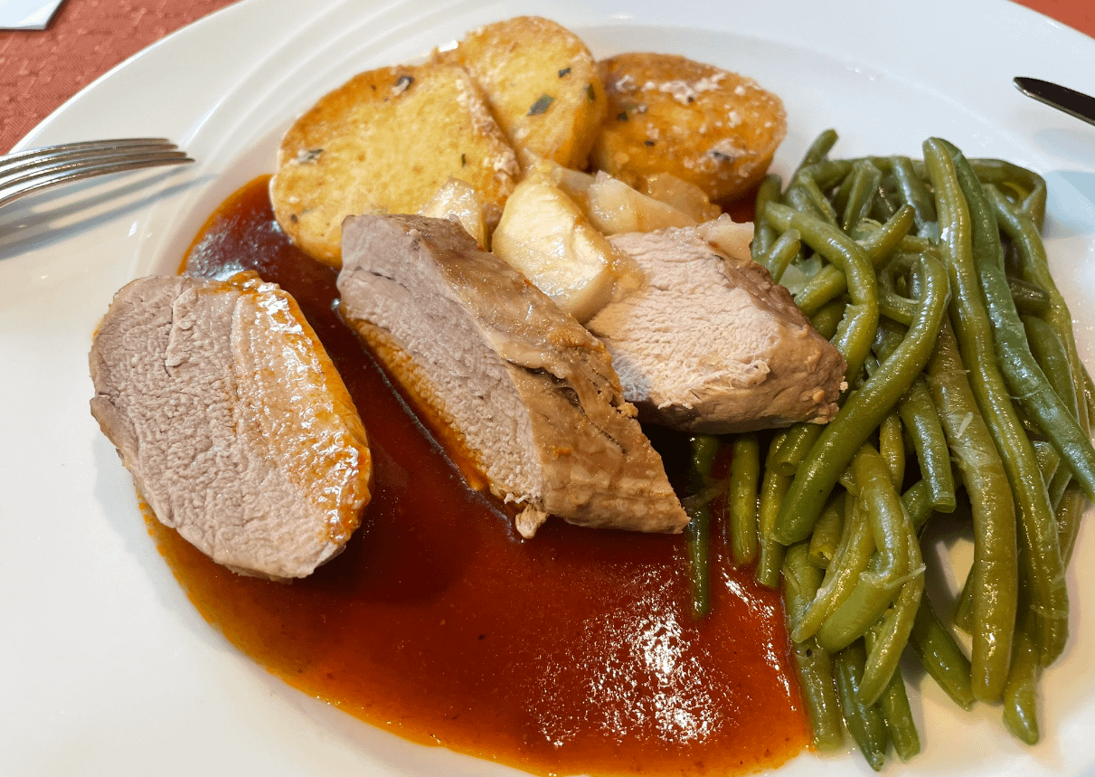
{"type": "Polygon", "coordinates": [[[688,522],[621,397],[604,346],[458,225],[356,216],[343,225],[343,317],[404,387],[470,480],[584,526],[688,522]]]}

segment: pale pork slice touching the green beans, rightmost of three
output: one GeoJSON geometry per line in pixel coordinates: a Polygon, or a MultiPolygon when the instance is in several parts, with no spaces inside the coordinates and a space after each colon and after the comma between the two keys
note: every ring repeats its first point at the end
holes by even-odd
{"type": "Polygon", "coordinates": [[[644,281],[586,327],[612,354],[624,398],[644,421],[688,432],[829,421],[843,357],[766,270],[715,248],[727,244],[717,225],[610,238],[644,281]]]}

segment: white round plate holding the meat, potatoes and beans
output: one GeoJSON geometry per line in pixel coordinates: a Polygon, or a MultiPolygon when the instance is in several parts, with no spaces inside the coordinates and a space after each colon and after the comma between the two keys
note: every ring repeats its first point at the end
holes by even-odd
{"type": "MultiPolygon", "coordinates": [[[[130,59],[21,144],[165,135],[199,162],[0,214],[0,774],[514,774],[366,727],[237,653],[175,584],[88,412],[89,340],[118,287],[173,268],[205,215],[269,171],[278,134],[326,89],[479,23],[540,13],[597,55],[675,52],[752,75],[786,102],[779,172],[833,126],[840,156],[919,156],[942,135],[1045,173],[1053,272],[1095,363],[1095,128],[1011,85],[1025,75],[1095,93],[1095,41],[1003,0],[665,8],[245,0],[130,59]]],[[[890,774],[1095,774],[1095,596],[1079,574],[1093,564],[1085,528],[1069,581],[1074,633],[1041,684],[1042,742],[1017,744],[998,709],[959,712],[927,682],[913,695],[925,752],[890,774]]],[[[868,769],[857,756],[804,755],[780,772],[849,773],[868,769]]]]}

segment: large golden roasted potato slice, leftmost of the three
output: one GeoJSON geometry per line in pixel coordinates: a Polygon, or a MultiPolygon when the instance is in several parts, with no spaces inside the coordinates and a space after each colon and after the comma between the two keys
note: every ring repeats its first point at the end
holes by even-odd
{"type": "Polygon", "coordinates": [[[379,68],[324,95],[289,128],[270,201],[295,243],[338,267],[346,216],[417,213],[451,175],[479,192],[493,227],[519,172],[462,68],[379,68]]]}

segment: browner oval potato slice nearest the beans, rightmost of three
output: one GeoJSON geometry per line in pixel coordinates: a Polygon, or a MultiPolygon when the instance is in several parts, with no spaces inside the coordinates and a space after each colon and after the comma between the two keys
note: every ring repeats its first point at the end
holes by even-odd
{"type": "Polygon", "coordinates": [[[636,188],[670,173],[733,199],[761,180],[786,135],[781,100],[742,76],[669,54],[599,67],[609,110],[590,161],[636,188]]]}

